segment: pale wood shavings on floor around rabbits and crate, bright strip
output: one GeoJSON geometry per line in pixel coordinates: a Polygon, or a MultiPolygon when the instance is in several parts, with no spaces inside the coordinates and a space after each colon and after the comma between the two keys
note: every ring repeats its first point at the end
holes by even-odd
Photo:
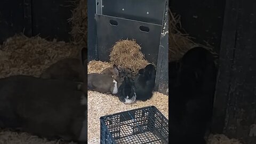
{"type": "MultiPolygon", "coordinates": [[[[87,73],[100,73],[101,70],[111,66],[108,62],[90,61],[87,73]]],[[[137,101],[127,105],[119,101],[118,97],[111,94],[102,94],[100,92],[88,91],[88,140],[89,143],[99,143],[100,139],[100,121],[101,116],[114,114],[121,111],[156,106],[157,109],[168,118],[168,97],[159,92],[154,92],[153,97],[146,102],[137,101]]]]}

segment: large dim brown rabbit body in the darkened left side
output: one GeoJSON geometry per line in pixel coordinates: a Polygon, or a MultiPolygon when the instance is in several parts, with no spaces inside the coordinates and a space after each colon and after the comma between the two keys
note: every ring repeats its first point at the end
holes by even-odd
{"type": "Polygon", "coordinates": [[[0,124],[49,140],[87,143],[87,95],[71,81],[23,75],[1,78],[0,124]]]}

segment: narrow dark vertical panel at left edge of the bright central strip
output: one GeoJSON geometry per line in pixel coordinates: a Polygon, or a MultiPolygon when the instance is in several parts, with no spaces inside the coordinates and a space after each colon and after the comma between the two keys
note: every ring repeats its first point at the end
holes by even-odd
{"type": "Polygon", "coordinates": [[[91,60],[98,60],[97,55],[97,27],[95,21],[96,4],[95,1],[87,1],[87,17],[88,17],[88,28],[87,28],[87,39],[88,39],[88,62],[91,60]]]}

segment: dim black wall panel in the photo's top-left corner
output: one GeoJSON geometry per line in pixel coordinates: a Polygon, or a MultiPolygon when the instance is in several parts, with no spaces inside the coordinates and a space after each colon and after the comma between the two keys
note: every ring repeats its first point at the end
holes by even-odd
{"type": "Polygon", "coordinates": [[[31,35],[30,0],[0,1],[0,44],[17,33],[31,35]]]}

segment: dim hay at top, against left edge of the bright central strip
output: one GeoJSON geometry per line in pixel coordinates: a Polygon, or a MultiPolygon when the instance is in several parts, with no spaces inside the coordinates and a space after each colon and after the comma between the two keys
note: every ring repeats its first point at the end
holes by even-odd
{"type": "Polygon", "coordinates": [[[76,8],[72,11],[70,34],[73,43],[87,47],[87,0],[73,1],[76,8]]]}

